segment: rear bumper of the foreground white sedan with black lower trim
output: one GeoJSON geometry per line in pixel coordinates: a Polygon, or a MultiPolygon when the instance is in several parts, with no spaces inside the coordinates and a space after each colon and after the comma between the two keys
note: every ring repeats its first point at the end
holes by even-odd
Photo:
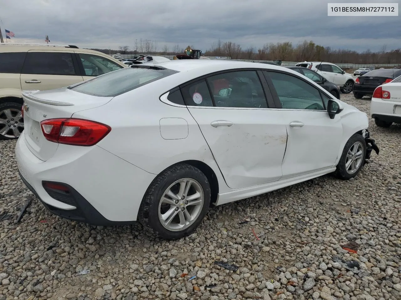
{"type": "Polygon", "coordinates": [[[98,146],[60,144],[47,161],[39,160],[26,145],[24,132],[15,148],[22,181],[52,213],[93,225],[136,221],[150,174],[98,146]],[[48,192],[43,182],[59,182],[70,198],[48,192]]]}

